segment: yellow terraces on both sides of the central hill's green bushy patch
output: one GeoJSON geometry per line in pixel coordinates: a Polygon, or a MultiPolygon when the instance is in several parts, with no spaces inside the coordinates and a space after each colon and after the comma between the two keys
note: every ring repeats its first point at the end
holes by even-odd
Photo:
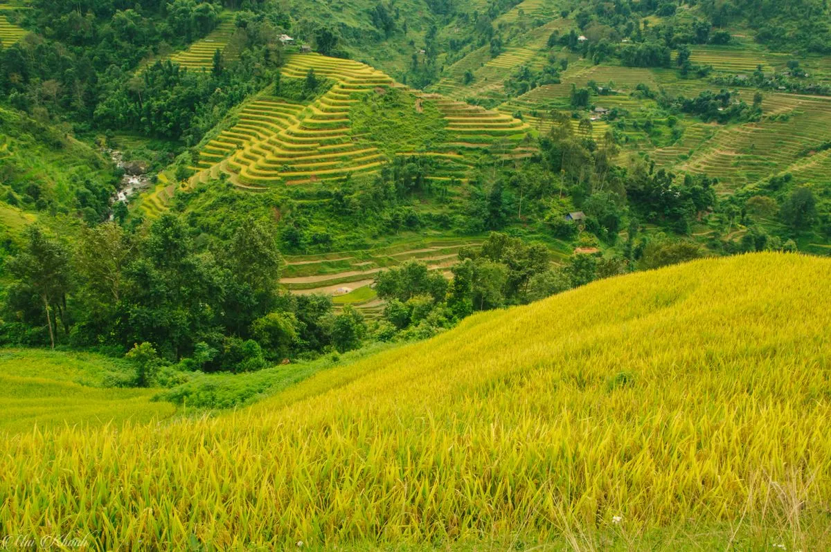
{"type": "MultiPolygon", "coordinates": [[[[200,151],[191,182],[207,182],[228,173],[238,188],[260,191],[278,183],[315,183],[372,174],[388,163],[379,144],[352,133],[349,110],[361,95],[401,85],[357,61],[317,54],[288,56],[283,75],[305,78],[310,69],[336,84],[311,105],[271,96],[245,105],[236,124],[200,151]]],[[[471,162],[460,151],[490,148],[498,154],[521,153],[514,150],[528,129],[522,121],[437,95],[420,98],[435,102],[452,137],[447,144],[436,145],[433,152],[419,153],[440,162],[443,170],[435,178],[465,178],[471,162]]],[[[411,153],[401,153],[407,154],[411,153]]]]}

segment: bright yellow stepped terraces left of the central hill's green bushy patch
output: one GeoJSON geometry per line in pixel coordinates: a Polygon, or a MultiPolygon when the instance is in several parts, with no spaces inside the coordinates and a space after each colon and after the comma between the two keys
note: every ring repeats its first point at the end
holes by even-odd
{"type": "Polygon", "coordinates": [[[304,78],[309,69],[337,84],[313,105],[264,97],[246,106],[238,124],[200,154],[195,167],[200,173],[194,178],[209,178],[211,173],[205,169],[219,163],[219,170],[231,173],[239,187],[257,190],[274,183],[310,183],[380,169],[385,155],[374,146],[356,143],[348,115],[358,95],[394,85],[391,77],[357,61],[317,54],[289,56],[283,75],[304,78]]]}

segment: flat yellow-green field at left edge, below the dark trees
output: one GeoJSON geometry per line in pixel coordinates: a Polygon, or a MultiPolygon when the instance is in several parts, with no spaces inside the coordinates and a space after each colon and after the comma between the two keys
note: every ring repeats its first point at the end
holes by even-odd
{"type": "Polygon", "coordinates": [[[147,423],[174,413],[151,403],[157,389],[104,388],[130,378],[130,366],[97,354],[0,349],[0,434],[127,420],[147,423]]]}

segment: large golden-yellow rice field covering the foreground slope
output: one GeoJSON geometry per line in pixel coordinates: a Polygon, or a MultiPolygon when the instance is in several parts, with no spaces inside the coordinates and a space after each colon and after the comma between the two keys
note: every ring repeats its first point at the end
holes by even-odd
{"type": "Polygon", "coordinates": [[[475,315],[253,408],[7,434],[0,530],[93,550],[829,550],[829,281],[807,256],[696,261],[475,315]]]}

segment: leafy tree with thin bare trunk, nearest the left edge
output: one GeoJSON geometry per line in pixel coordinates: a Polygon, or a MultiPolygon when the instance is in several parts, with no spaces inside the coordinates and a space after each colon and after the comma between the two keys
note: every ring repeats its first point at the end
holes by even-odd
{"type": "Polygon", "coordinates": [[[57,318],[54,320],[56,328],[53,328],[52,310],[60,313],[65,330],[68,331],[65,317],[66,294],[71,286],[70,254],[66,247],[47,237],[37,225],[27,227],[23,235],[25,243],[22,252],[8,259],[7,268],[14,278],[31,288],[41,300],[49,329],[49,341],[54,349],[57,318]]]}

